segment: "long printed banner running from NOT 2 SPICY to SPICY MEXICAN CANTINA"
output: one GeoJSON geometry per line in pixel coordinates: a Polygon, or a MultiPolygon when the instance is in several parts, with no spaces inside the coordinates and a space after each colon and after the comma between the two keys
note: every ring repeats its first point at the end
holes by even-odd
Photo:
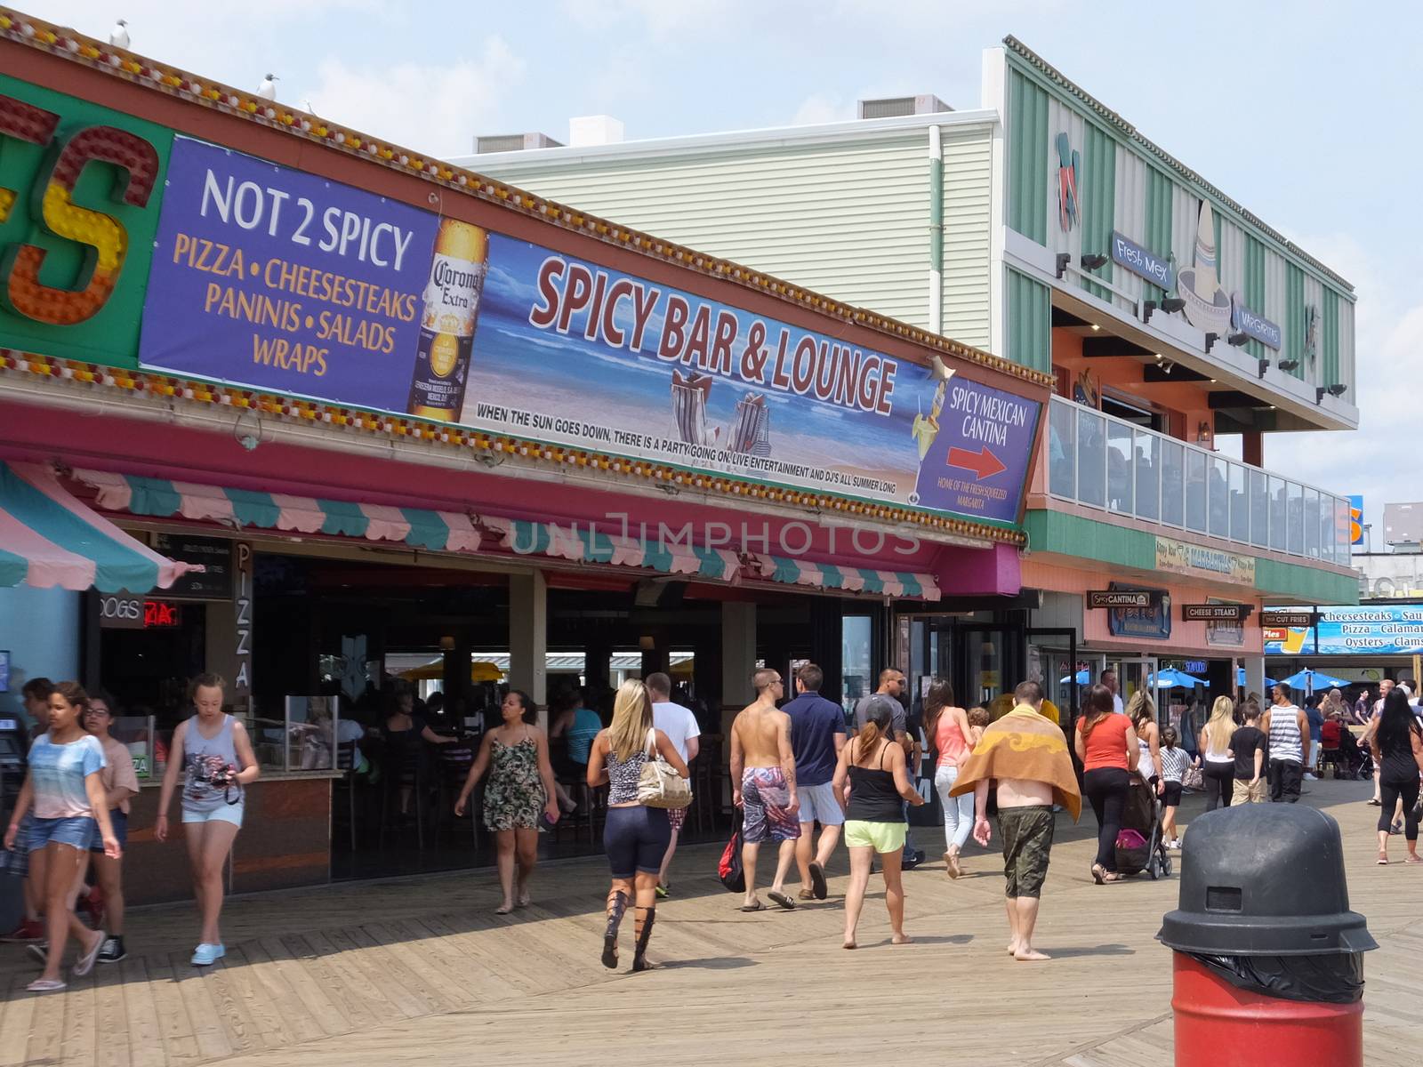
{"type": "Polygon", "coordinates": [[[181,137],[141,361],[999,522],[1042,407],[181,137]]]}

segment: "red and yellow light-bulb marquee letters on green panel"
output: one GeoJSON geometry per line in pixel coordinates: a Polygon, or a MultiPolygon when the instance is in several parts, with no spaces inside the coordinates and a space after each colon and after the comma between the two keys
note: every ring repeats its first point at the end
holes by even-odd
{"type": "Polygon", "coordinates": [[[128,232],[112,215],[74,203],[74,186],[91,162],[118,168],[111,196],[115,203],[147,206],[158,178],[158,152],[144,138],[108,125],[92,125],[55,142],[60,117],[53,111],[0,95],[0,135],[50,147],[53,164],[41,169],[28,191],[0,188],[0,223],[10,219],[28,192],[31,212],[44,232],[84,246],[78,272],[81,287],[57,289],[40,280],[46,249],[20,243],[0,260],[0,299],[27,319],[73,326],[91,319],[114,293],[128,252],[128,232]]]}

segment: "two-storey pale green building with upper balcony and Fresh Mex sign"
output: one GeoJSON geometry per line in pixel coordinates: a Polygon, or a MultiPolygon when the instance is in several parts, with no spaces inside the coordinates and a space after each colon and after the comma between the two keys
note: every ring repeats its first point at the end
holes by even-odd
{"type": "Polygon", "coordinates": [[[1355,595],[1348,501],[1264,447],[1358,427],[1353,289],[1015,38],[978,110],[861,112],[465,162],[1052,376],[1029,603],[966,639],[902,612],[916,674],[968,673],[973,701],[1037,674],[1074,703],[1080,671],[1130,690],[1164,663],[1259,690],[1261,606],[1355,595]]]}

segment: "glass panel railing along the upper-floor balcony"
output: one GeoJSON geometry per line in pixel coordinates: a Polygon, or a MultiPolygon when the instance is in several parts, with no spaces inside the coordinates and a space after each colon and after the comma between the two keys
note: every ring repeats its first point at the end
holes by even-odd
{"type": "Polygon", "coordinates": [[[1220,541],[1349,565],[1349,501],[1052,398],[1047,492],[1220,541]]]}

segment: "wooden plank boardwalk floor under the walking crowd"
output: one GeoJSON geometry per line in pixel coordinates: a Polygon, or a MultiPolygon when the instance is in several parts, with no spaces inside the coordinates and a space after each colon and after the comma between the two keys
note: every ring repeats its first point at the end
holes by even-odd
{"type": "MultiPolygon", "coordinates": [[[[1306,801],[1340,819],[1353,906],[1383,946],[1366,959],[1366,1060],[1412,1067],[1423,868],[1373,864],[1368,785],[1309,785],[1306,801]]],[[[1003,952],[1002,879],[976,849],[978,874],[956,883],[942,864],[906,875],[914,945],[888,945],[872,882],[859,952],[840,947],[842,855],[824,903],[741,915],[709,876],[714,849],[684,849],[653,939],[667,963],[652,975],[598,965],[596,859],[541,868],[538,903],[507,918],[492,915],[484,872],[233,901],[228,959],[206,972],[188,966],[189,908],[141,911],[129,959],[61,994],[24,993],[34,969],[0,949],[0,1067],[606,1063],[653,1019],[656,1058],[673,1064],[925,1051],[956,1064],[1170,1064],[1170,953],[1153,935],[1177,882],[1093,886],[1090,852],[1084,828],[1053,852],[1044,965],[1003,952]]]]}

